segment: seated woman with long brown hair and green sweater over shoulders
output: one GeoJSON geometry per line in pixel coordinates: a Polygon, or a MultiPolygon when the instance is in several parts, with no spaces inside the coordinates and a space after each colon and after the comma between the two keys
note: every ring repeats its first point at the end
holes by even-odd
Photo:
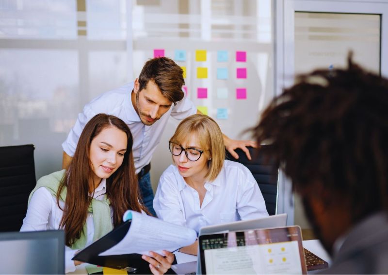
{"type": "MultiPolygon", "coordinates": [[[[132,135],[117,117],[98,114],[83,129],[67,170],[40,178],[29,197],[20,231],[65,230],[65,271],[71,258],[123,222],[126,210],[147,212],[140,204],[132,156],[132,135]]],[[[154,274],[165,273],[174,255],[143,258],[154,274]]]]}

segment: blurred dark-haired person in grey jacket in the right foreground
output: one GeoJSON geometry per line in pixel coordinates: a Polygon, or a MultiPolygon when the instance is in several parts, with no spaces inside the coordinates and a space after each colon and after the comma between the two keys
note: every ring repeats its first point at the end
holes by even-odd
{"type": "Polygon", "coordinates": [[[333,257],[327,274],[388,273],[388,80],[348,58],[276,97],[254,129],[333,257]]]}

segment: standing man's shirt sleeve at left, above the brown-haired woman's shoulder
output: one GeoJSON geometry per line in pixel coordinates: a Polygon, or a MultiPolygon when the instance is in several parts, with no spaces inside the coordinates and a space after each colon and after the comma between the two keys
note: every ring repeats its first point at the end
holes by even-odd
{"type": "Polygon", "coordinates": [[[62,148],[67,155],[74,155],[83,128],[85,127],[86,123],[95,115],[97,115],[97,113],[94,112],[89,105],[85,105],[82,113],[78,114],[76,123],[74,124],[73,128],[71,128],[66,140],[62,143],[62,148]]]}

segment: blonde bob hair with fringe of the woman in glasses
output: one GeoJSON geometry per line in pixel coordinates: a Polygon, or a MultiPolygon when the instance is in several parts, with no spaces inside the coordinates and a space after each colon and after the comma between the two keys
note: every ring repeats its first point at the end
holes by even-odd
{"type": "Polygon", "coordinates": [[[217,122],[208,116],[192,115],[179,123],[170,142],[182,146],[192,135],[195,135],[199,142],[198,149],[204,151],[201,157],[208,159],[209,171],[206,178],[213,181],[221,172],[225,160],[225,145],[221,129],[217,122]]]}

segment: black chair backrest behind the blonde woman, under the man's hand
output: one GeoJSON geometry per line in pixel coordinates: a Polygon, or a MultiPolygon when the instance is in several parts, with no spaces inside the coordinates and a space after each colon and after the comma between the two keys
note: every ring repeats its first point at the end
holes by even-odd
{"type": "Polygon", "coordinates": [[[226,159],[233,160],[245,165],[252,172],[256,181],[259,184],[261,193],[263,194],[265,206],[268,214],[276,214],[277,194],[278,194],[278,175],[279,169],[275,162],[267,157],[264,157],[260,152],[268,150],[271,145],[261,145],[259,149],[249,147],[252,160],[249,160],[241,149],[235,150],[239,155],[239,159],[235,159],[229,152],[226,151],[226,159]]]}

